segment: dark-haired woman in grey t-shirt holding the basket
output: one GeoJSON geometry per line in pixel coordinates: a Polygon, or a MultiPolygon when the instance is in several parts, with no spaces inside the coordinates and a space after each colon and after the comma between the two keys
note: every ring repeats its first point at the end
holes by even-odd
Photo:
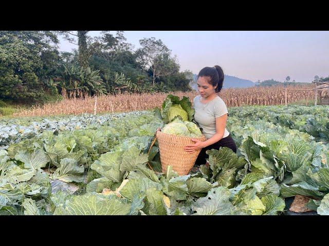
{"type": "Polygon", "coordinates": [[[215,93],[223,87],[224,72],[220,66],[203,68],[197,76],[197,88],[200,95],[194,97],[194,120],[207,140],[202,142],[192,138],[194,145],[188,145],[184,149],[190,153],[201,149],[195,166],[205,165],[207,150],[228,147],[236,153],[235,143],[226,129],[228,111],[223,99],[215,93]]]}

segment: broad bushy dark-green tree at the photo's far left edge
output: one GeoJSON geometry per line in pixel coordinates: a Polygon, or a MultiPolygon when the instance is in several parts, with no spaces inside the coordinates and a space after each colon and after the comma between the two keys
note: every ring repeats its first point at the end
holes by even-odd
{"type": "Polygon", "coordinates": [[[0,31],[0,97],[42,99],[58,64],[57,44],[50,31],[0,31]]]}

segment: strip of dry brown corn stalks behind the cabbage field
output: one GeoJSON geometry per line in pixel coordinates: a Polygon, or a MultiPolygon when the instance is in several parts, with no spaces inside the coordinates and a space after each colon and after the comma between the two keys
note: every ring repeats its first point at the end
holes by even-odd
{"type": "MultiPolygon", "coordinates": [[[[313,89],[312,85],[285,87],[290,89],[313,89]]],[[[142,93],[142,94],[118,94],[99,96],[97,98],[97,113],[102,112],[127,112],[135,110],[147,110],[161,107],[162,101],[168,94],[193,98],[198,95],[196,91],[191,92],[169,92],[169,93],[142,93]]],[[[250,87],[250,88],[228,88],[223,89],[218,95],[224,100],[227,107],[247,105],[284,105],[285,90],[282,86],[276,87],[250,87]]],[[[314,99],[313,91],[288,91],[287,103],[306,102],[314,99]]],[[[85,99],[64,99],[59,103],[46,104],[41,107],[32,107],[28,110],[15,113],[13,116],[43,116],[61,114],[82,114],[95,112],[95,97],[85,99]]]]}

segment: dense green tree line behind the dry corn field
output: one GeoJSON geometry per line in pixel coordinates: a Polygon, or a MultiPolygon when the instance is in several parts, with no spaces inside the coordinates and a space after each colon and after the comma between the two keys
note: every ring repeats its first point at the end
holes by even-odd
{"type": "Polygon", "coordinates": [[[22,103],[101,94],[188,91],[191,71],[161,39],[143,38],[140,48],[124,33],[103,31],[0,31],[0,99],[22,103]],[[59,50],[59,36],[77,45],[59,50]]]}

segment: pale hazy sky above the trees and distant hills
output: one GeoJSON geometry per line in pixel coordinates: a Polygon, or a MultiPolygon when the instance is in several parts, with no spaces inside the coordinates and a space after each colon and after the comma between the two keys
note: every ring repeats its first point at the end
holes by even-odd
{"type": "MultiPolygon", "coordinates": [[[[161,39],[177,56],[180,71],[195,74],[219,65],[225,74],[251,81],[290,76],[310,82],[315,75],[329,75],[329,31],[124,31],[124,36],[135,50],[144,37],[161,39]]],[[[62,37],[59,47],[77,49],[62,37]]]]}

